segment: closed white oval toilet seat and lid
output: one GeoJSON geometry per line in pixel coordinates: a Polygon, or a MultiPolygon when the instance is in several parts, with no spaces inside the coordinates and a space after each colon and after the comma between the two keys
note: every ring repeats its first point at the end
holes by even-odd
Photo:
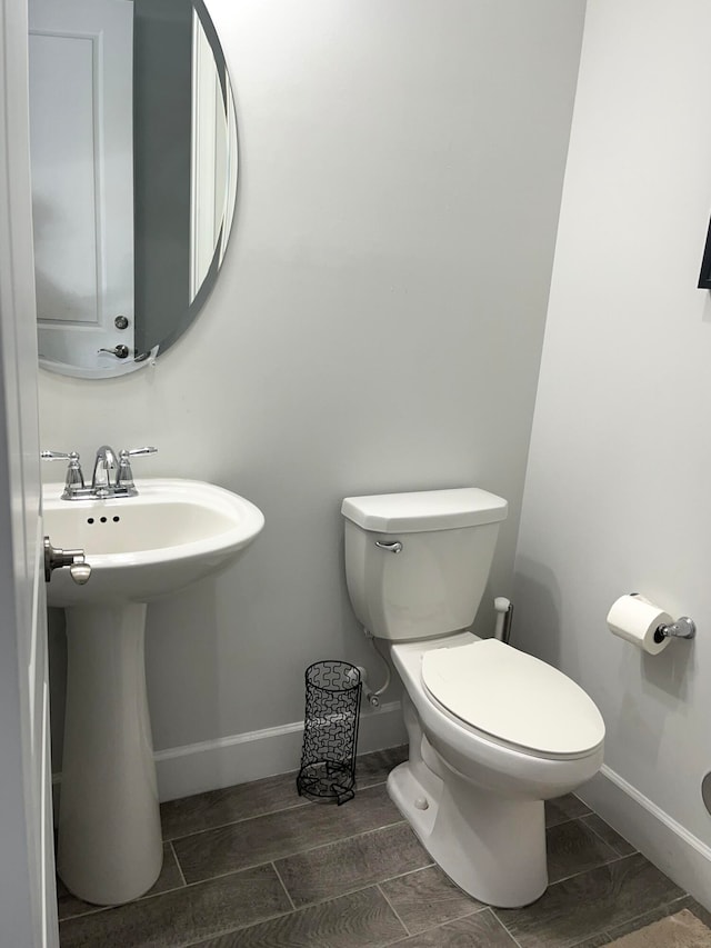
{"type": "Polygon", "coordinates": [[[580,757],[604,739],[600,711],[582,688],[498,639],[425,651],[421,678],[453,717],[529,754],[580,757]]]}

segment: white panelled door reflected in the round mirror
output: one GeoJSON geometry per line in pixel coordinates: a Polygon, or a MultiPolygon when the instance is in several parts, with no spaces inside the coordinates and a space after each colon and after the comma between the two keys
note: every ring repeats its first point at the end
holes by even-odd
{"type": "Polygon", "coordinates": [[[133,349],[133,3],[29,10],[39,350],[110,365],[100,349],[133,349]]]}

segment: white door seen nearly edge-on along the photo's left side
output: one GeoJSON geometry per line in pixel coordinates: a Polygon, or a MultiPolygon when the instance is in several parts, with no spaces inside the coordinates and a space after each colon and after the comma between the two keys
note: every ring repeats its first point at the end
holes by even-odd
{"type": "Polygon", "coordinates": [[[0,944],[58,948],[27,47],[27,0],[0,0],[0,944]]]}

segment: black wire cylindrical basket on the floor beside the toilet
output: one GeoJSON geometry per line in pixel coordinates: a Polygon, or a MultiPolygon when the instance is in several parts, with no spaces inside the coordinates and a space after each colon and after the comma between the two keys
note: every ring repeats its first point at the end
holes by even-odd
{"type": "Polygon", "coordinates": [[[306,671],[299,796],[336,800],[356,796],[360,671],[347,661],[317,661],[306,671]]]}

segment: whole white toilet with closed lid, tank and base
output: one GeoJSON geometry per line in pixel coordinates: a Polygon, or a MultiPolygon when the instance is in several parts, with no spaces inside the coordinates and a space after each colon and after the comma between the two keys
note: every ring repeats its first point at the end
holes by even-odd
{"type": "Polygon", "coordinates": [[[543,801],[602,765],[604,722],[574,681],[469,631],[507,501],[479,488],[349,497],[346,577],[403,685],[409,760],[388,792],[444,872],[514,908],[548,886],[543,801]]]}

